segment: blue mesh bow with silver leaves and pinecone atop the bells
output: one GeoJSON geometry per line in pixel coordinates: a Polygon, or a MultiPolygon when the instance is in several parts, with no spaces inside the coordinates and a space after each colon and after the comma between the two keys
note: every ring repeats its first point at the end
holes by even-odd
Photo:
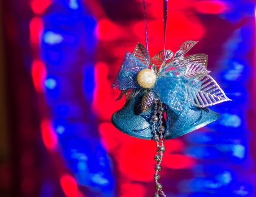
{"type": "MultiPolygon", "coordinates": [[[[174,56],[172,51],[163,50],[151,59],[146,48],[138,43],[133,53],[126,52],[112,87],[122,91],[119,98],[125,95],[127,100],[145,91],[141,101],[142,112],[150,108],[155,98],[181,115],[192,106],[206,108],[229,101],[218,83],[209,75],[208,56],[184,56],[196,43],[186,41],[174,56]],[[142,87],[137,79],[138,73],[145,69],[155,74],[155,82],[150,88],[142,87]]],[[[147,80],[149,76],[144,77],[147,80]]]]}

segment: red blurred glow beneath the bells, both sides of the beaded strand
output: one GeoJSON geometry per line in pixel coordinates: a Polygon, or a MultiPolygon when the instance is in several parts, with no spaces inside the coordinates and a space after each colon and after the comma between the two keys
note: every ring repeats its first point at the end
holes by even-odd
{"type": "MultiPolygon", "coordinates": [[[[118,162],[120,172],[129,180],[151,181],[154,174],[155,142],[141,140],[118,131],[111,123],[99,125],[102,144],[118,162]],[[135,161],[135,162],[134,162],[135,161]]],[[[186,155],[181,155],[184,142],[180,139],[165,142],[163,166],[172,169],[191,168],[195,160],[186,155]],[[177,152],[177,154],[172,154],[177,152]]]]}

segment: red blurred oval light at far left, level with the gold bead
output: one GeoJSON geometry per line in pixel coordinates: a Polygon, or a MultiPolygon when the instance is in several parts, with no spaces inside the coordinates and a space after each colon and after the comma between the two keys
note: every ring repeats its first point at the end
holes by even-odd
{"type": "Polygon", "coordinates": [[[44,62],[41,60],[34,60],[32,62],[31,75],[36,91],[43,92],[46,79],[46,68],[44,62]]]}

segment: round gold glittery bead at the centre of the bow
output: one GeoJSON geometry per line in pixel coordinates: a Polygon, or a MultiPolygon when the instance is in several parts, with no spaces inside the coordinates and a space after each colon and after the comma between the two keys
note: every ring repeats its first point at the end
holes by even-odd
{"type": "Polygon", "coordinates": [[[153,87],[156,80],[157,75],[150,69],[143,69],[137,75],[137,82],[142,88],[153,87]]]}

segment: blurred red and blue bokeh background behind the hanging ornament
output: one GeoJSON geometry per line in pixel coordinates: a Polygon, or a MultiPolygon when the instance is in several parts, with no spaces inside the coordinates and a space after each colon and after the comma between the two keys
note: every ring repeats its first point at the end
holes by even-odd
{"type": "MultiPolygon", "coordinates": [[[[151,56],[162,6],[146,0],[151,56]]],[[[145,44],[141,0],[8,0],[0,14],[0,196],[153,196],[154,142],[110,121],[125,52],[145,44]]],[[[256,196],[255,24],[254,0],[169,1],[166,48],[199,41],[191,53],[233,101],[166,142],[168,196],[256,196]]]]}

